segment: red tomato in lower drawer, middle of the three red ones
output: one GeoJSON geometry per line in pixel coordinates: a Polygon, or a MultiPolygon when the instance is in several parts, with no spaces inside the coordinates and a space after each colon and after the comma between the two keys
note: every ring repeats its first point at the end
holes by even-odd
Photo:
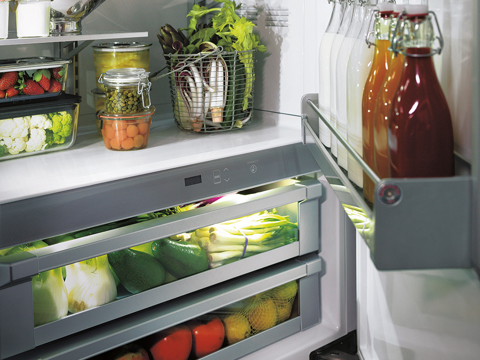
{"type": "Polygon", "coordinates": [[[148,339],[151,360],[187,360],[191,351],[191,332],[183,324],[161,330],[148,339]]]}

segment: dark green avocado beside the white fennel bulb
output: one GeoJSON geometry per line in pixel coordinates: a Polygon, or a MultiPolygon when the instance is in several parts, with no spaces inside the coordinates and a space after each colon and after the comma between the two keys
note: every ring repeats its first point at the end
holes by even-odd
{"type": "Polygon", "coordinates": [[[125,248],[109,253],[108,262],[123,287],[133,294],[165,282],[162,264],[146,252],[125,248]]]}

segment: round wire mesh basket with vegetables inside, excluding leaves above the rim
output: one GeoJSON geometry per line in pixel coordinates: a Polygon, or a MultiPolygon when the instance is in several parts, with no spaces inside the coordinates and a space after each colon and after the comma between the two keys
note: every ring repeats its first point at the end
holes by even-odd
{"type": "Polygon", "coordinates": [[[215,50],[169,54],[169,84],[173,117],[192,132],[230,131],[251,121],[254,53],[215,50]]]}

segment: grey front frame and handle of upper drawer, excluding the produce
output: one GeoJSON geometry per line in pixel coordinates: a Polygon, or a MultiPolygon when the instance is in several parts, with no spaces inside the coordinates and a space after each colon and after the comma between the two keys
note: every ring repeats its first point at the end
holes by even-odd
{"type": "MultiPolygon", "coordinates": [[[[0,259],[0,306],[8,308],[0,318],[0,358],[70,336],[93,326],[130,316],[160,303],[228,281],[245,273],[318,251],[321,184],[305,179],[243,195],[172,215],[79,237],[40,249],[0,259]],[[31,276],[123,248],[238,218],[265,209],[284,206],[285,214],[298,222],[298,240],[244,257],[241,260],[164,283],[149,290],[119,296],[116,300],[69,314],[34,327],[31,276]],[[316,224],[316,226],[314,225],[316,224]],[[61,334],[61,335],[60,335],[61,334]],[[21,342],[18,342],[21,339],[21,342]]],[[[183,300],[179,301],[183,302],[183,300]]]]}

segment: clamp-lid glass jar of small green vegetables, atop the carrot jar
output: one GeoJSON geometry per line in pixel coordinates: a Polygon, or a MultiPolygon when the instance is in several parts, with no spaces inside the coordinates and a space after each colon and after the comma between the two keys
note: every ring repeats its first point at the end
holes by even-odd
{"type": "Polygon", "coordinates": [[[150,107],[149,72],[138,67],[109,69],[98,82],[105,87],[105,110],[113,114],[129,114],[150,107]]]}

